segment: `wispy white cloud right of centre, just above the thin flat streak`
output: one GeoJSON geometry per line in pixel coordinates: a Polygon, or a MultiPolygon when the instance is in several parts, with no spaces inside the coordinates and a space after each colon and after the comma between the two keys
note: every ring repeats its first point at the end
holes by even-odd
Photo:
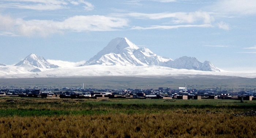
{"type": "Polygon", "coordinates": [[[152,19],[158,20],[163,18],[173,18],[173,23],[195,23],[203,21],[203,23],[211,23],[214,18],[209,12],[196,11],[196,12],[164,12],[157,14],[144,14],[144,13],[129,13],[129,16],[140,18],[140,19],[152,19]]]}

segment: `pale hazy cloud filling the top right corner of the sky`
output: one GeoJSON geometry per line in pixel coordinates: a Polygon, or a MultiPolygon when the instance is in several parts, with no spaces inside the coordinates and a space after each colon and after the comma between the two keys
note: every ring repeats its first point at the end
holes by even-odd
{"type": "Polygon", "coordinates": [[[212,8],[229,14],[256,14],[256,0],[219,0],[212,8]]]}

